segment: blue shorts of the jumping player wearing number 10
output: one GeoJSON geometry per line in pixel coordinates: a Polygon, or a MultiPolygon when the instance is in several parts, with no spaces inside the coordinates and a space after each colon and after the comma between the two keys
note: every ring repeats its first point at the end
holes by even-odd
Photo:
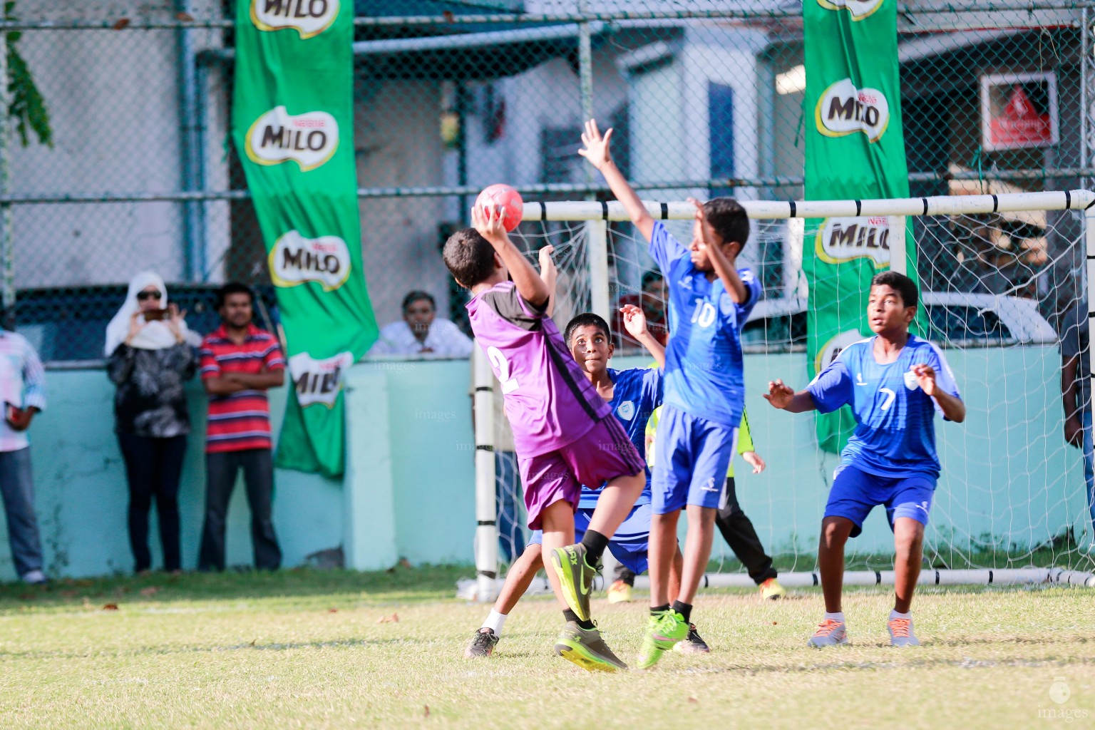
{"type": "Polygon", "coordinates": [[[726,471],[737,439],[737,428],[662,406],[650,477],[654,513],[676,512],[685,505],[724,507],[726,471]]]}

